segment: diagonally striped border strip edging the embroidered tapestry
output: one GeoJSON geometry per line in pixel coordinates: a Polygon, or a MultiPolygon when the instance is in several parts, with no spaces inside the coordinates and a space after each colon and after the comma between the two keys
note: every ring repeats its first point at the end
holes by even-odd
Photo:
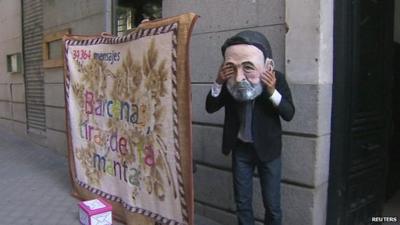
{"type": "MultiPolygon", "coordinates": [[[[178,46],[178,41],[177,41],[177,32],[178,32],[178,24],[177,23],[172,23],[166,26],[161,26],[161,27],[156,27],[152,29],[142,29],[139,30],[138,32],[128,34],[126,36],[122,37],[97,37],[94,39],[88,39],[88,40],[70,40],[67,39],[65,40],[65,65],[66,65],[66,78],[65,78],[65,88],[66,88],[66,98],[69,98],[69,88],[70,88],[70,70],[69,66],[67,63],[67,56],[68,56],[68,47],[69,46],[86,46],[86,45],[98,45],[98,44],[120,44],[120,43],[125,43],[128,41],[132,40],[137,40],[142,37],[147,37],[147,36],[154,36],[154,35],[159,35],[163,33],[168,33],[168,32],[173,32],[172,36],[172,45],[173,45],[173,50],[172,50],[172,98],[173,98],[173,135],[174,135],[174,147],[176,149],[175,151],[175,159],[177,160],[176,164],[176,171],[178,173],[178,184],[179,184],[179,194],[181,197],[181,206],[182,206],[182,217],[185,222],[189,221],[188,218],[188,208],[187,204],[185,201],[185,191],[184,191],[184,182],[183,182],[183,174],[182,174],[182,168],[181,168],[181,158],[180,158],[180,148],[179,148],[179,136],[178,136],[178,104],[177,104],[177,46],[178,46]]],[[[69,108],[68,101],[66,101],[66,107],[69,108]]],[[[74,178],[74,181],[81,187],[87,189],[88,191],[97,194],[101,197],[104,197],[108,200],[115,201],[118,203],[121,203],[124,208],[126,208],[130,212],[135,212],[135,213],[140,213],[142,215],[148,216],[158,223],[161,224],[166,224],[166,225],[181,225],[179,222],[165,218],[157,213],[151,212],[146,209],[138,208],[138,207],[133,207],[126,202],[124,202],[120,197],[108,194],[106,192],[103,192],[99,189],[93,188],[89,186],[88,184],[79,181],[76,177],[74,178]]]]}

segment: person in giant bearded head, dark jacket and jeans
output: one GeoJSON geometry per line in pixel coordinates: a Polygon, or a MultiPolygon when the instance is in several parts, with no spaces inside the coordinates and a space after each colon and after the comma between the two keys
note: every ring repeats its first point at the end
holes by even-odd
{"type": "Polygon", "coordinates": [[[232,172],[239,225],[254,225],[253,174],[257,167],[265,207],[265,224],[281,225],[282,128],[294,105],[282,73],[273,69],[270,44],[255,31],[242,31],[221,47],[224,62],[206,110],[225,107],[222,152],[232,151],[232,172]]]}

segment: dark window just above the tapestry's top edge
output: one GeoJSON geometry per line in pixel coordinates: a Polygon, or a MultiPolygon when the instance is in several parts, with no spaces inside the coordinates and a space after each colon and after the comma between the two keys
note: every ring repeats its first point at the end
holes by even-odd
{"type": "Polygon", "coordinates": [[[162,0],[115,0],[113,33],[118,36],[137,27],[143,19],[161,18],[162,0]]]}

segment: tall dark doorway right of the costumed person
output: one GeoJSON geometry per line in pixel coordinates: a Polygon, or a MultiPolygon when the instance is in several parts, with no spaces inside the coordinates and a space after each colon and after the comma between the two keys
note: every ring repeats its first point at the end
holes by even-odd
{"type": "MultiPolygon", "coordinates": [[[[393,131],[393,0],[335,0],[328,225],[380,224],[393,131]]],[[[397,88],[397,91],[395,90],[397,88]]],[[[398,94],[397,94],[398,95],[398,94]]],[[[398,115],[398,114],[397,114],[398,115]]],[[[398,146],[398,145],[397,145],[398,146]]]]}

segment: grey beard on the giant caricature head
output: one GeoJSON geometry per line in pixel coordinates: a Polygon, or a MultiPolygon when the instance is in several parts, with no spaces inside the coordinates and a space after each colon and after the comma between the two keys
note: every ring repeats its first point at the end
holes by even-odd
{"type": "Polygon", "coordinates": [[[247,80],[236,82],[234,79],[229,79],[226,87],[232,97],[239,101],[251,101],[262,93],[261,83],[252,84],[247,80]]]}

